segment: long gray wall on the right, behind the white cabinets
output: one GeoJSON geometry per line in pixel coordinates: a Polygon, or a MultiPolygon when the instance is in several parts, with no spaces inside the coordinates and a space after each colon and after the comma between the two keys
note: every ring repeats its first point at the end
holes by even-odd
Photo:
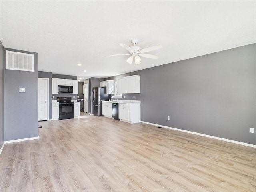
{"type": "Polygon", "coordinates": [[[141,93],[123,96],[141,100],[142,121],[255,145],[255,45],[124,74],[141,75],[141,93]]]}

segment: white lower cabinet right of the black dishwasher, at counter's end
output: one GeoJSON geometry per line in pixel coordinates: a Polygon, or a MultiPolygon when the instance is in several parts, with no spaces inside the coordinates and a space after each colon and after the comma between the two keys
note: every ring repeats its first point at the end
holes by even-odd
{"type": "Polygon", "coordinates": [[[119,104],[118,118],[128,123],[140,122],[140,104],[119,104]]]}

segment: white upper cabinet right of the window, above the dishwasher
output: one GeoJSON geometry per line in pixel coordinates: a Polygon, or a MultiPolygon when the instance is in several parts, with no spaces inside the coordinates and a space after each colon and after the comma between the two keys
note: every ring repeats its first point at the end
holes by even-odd
{"type": "Polygon", "coordinates": [[[118,93],[140,93],[140,75],[117,79],[118,93]]]}

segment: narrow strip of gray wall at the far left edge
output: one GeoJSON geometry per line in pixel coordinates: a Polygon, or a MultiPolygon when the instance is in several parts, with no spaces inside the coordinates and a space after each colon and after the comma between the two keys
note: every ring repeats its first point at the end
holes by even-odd
{"type": "Polygon", "coordinates": [[[0,148],[4,144],[4,46],[0,41],[0,148]]]}

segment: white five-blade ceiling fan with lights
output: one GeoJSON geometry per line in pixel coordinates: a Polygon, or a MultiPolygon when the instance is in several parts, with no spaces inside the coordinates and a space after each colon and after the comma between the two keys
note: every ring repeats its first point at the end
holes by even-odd
{"type": "Polygon", "coordinates": [[[133,46],[127,46],[123,43],[118,43],[122,48],[125,48],[126,50],[129,51],[129,53],[123,53],[123,54],[115,54],[115,55],[108,55],[106,57],[112,57],[112,56],[117,56],[117,55],[132,55],[130,56],[126,61],[130,64],[132,64],[132,61],[134,59],[135,64],[140,64],[140,56],[141,57],[146,57],[150,59],[158,59],[158,56],[151,55],[151,54],[146,54],[146,52],[154,51],[157,49],[162,48],[162,45],[156,45],[148,48],[141,49],[139,46],[136,45],[138,43],[137,39],[132,39],[131,42],[133,43],[133,46]]]}

